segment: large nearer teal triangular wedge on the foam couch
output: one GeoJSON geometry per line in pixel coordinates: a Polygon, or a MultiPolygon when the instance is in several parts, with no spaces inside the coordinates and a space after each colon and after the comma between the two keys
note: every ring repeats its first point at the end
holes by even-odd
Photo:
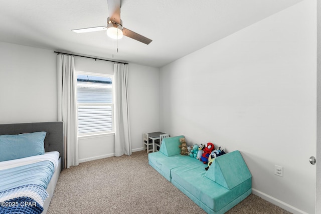
{"type": "Polygon", "coordinates": [[[251,172],[238,150],[215,158],[205,176],[227,189],[252,179],[251,172]]]}

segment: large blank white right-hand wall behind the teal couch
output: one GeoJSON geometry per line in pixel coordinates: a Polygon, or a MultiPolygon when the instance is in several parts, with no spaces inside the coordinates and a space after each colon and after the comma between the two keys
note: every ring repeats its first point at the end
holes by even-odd
{"type": "Polygon", "coordinates": [[[240,150],[254,193],[294,213],[314,213],[315,5],[303,1],[160,74],[161,129],[240,150]]]}

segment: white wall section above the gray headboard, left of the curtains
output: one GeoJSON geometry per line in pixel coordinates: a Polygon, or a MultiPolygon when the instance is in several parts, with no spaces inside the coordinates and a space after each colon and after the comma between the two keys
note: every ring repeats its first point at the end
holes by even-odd
{"type": "Polygon", "coordinates": [[[53,51],[0,42],[0,123],[57,121],[53,51]]]}

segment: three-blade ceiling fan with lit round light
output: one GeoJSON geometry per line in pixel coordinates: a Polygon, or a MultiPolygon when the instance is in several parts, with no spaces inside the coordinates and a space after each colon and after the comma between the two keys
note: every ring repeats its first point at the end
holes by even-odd
{"type": "Polygon", "coordinates": [[[115,40],[121,39],[122,36],[124,35],[131,39],[142,42],[146,45],[151,43],[152,41],[151,39],[148,39],[140,34],[137,34],[133,31],[130,31],[122,27],[122,20],[120,19],[120,0],[107,0],[107,3],[108,3],[109,17],[107,18],[106,26],[82,28],[82,29],[75,29],[71,31],[76,33],[86,33],[86,32],[93,32],[93,31],[107,30],[107,36],[115,40]]]}

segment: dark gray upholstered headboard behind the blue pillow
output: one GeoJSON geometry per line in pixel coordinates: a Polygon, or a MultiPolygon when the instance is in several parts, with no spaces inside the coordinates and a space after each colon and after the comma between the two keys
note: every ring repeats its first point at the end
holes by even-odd
{"type": "Polygon", "coordinates": [[[45,151],[59,151],[62,169],[65,166],[64,124],[63,122],[0,124],[0,135],[22,134],[46,131],[45,151]]]}

